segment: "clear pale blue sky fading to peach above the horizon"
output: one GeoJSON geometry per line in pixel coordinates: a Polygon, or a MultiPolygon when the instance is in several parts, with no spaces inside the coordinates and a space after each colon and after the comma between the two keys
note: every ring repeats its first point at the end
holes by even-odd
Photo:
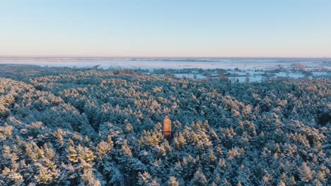
{"type": "Polygon", "coordinates": [[[0,0],[0,56],[331,56],[330,0],[0,0]]]}

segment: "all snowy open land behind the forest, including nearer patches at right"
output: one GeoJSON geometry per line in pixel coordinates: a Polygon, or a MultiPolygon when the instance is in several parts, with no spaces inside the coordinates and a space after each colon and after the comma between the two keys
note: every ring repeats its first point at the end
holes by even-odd
{"type": "MultiPolygon", "coordinates": [[[[118,68],[118,69],[187,69],[202,68],[227,70],[231,81],[261,82],[264,78],[325,78],[330,79],[331,61],[312,58],[4,58],[0,64],[28,64],[37,66],[70,68],[118,68]],[[272,70],[277,70],[273,72],[272,70]],[[305,75],[306,70],[310,75],[305,75]]],[[[153,73],[152,73],[153,74],[153,73]]],[[[163,76],[163,74],[157,74],[163,76]]],[[[207,75],[197,73],[175,73],[175,77],[204,79],[207,75]],[[194,75],[195,74],[195,75],[194,75]]],[[[215,75],[214,75],[215,77],[215,75]]],[[[217,75],[216,75],[217,78],[217,75]]]]}

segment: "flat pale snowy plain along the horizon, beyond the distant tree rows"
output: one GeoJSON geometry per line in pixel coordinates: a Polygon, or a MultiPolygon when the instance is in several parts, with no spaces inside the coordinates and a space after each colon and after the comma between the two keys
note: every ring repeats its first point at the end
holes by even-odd
{"type": "Polygon", "coordinates": [[[301,64],[305,68],[331,70],[331,62],[312,60],[286,60],[274,58],[274,60],[261,59],[134,59],[134,58],[0,58],[0,64],[33,64],[38,66],[68,66],[91,67],[98,65],[100,68],[223,68],[223,69],[276,69],[291,68],[295,64],[301,64]]]}

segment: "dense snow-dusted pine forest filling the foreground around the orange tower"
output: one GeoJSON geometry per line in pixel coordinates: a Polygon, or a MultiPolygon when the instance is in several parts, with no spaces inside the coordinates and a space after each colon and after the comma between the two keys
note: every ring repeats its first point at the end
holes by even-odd
{"type": "Polygon", "coordinates": [[[2,65],[0,185],[330,185],[330,87],[2,65]]]}

